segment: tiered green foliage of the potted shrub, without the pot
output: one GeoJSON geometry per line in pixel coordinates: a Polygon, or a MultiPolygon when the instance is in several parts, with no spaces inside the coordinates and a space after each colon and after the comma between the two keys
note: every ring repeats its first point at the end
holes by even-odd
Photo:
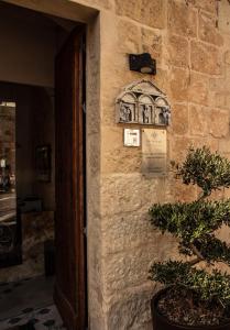
{"type": "Polygon", "coordinates": [[[185,286],[206,304],[220,301],[230,310],[230,275],[212,267],[199,270],[199,262],[223,262],[230,265],[230,246],[216,238],[216,230],[229,226],[230,199],[211,201],[213,190],[230,187],[230,162],[206,146],[189,148],[185,162],[177,166],[177,176],[185,185],[201,188],[200,197],[188,202],[155,204],[150,209],[152,224],[162,233],[178,238],[178,251],[189,261],[154,263],[150,278],[164,285],[185,286]]]}

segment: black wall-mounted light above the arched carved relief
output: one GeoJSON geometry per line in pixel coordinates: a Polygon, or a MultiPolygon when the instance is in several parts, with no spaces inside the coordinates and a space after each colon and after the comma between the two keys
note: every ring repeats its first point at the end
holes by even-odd
{"type": "Polygon", "coordinates": [[[139,72],[142,74],[156,74],[156,62],[151,57],[149,53],[143,54],[130,54],[130,69],[132,72],[139,72]]]}

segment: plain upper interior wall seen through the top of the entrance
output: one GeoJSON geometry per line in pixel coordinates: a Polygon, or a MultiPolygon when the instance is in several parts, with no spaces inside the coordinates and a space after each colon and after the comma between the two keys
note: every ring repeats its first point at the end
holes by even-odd
{"type": "Polygon", "coordinates": [[[47,26],[33,14],[24,19],[24,15],[20,16],[20,10],[17,9],[18,14],[14,14],[1,4],[0,80],[53,86],[55,28],[47,26]]]}

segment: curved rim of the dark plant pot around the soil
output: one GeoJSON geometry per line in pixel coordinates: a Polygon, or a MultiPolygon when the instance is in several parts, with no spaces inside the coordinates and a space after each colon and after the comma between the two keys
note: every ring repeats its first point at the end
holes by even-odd
{"type": "Polygon", "coordinates": [[[218,324],[218,326],[189,326],[189,324],[179,324],[179,323],[174,323],[172,321],[169,321],[166,317],[164,317],[162,314],[158,312],[157,310],[157,302],[158,302],[158,298],[160,296],[166,292],[168,288],[171,288],[173,285],[171,286],[166,286],[162,289],[160,289],[151,299],[151,307],[154,308],[154,314],[157,315],[158,318],[161,318],[162,320],[164,320],[165,323],[167,323],[168,326],[176,326],[178,329],[182,329],[182,330],[185,330],[185,329],[188,329],[188,330],[200,330],[201,329],[208,329],[208,330],[220,330],[221,328],[220,327],[227,327],[227,326],[230,326],[230,320],[226,323],[222,323],[222,324],[218,324]]]}

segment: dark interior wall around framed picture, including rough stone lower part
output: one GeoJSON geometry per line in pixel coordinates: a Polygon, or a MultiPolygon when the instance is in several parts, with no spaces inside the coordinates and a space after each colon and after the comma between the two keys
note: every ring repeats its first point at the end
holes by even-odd
{"type": "Polygon", "coordinates": [[[21,212],[22,258],[14,267],[0,270],[0,283],[44,274],[44,242],[54,237],[55,166],[53,89],[0,82],[0,96],[14,101],[15,107],[15,179],[17,198],[41,198],[42,212],[21,212]],[[50,145],[52,177],[50,183],[37,180],[35,150],[50,145]]]}

